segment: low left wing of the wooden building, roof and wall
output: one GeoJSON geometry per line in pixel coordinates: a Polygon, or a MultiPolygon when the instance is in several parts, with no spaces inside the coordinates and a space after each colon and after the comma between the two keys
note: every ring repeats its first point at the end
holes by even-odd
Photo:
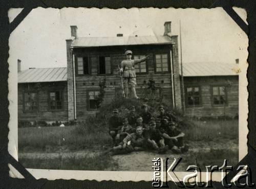
{"type": "Polygon", "coordinates": [[[18,70],[18,121],[68,121],[66,67],[18,70]]]}

